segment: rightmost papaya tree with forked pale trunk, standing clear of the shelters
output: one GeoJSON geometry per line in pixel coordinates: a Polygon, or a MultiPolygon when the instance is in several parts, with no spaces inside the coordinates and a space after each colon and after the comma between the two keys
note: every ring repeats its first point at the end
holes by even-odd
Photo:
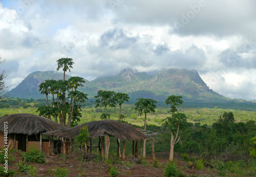
{"type": "Polygon", "coordinates": [[[180,140],[181,132],[188,129],[188,124],[186,120],[186,115],[184,113],[178,112],[177,109],[177,107],[183,104],[182,96],[168,96],[164,103],[166,105],[170,105],[169,113],[172,114],[171,116],[168,116],[164,119],[163,125],[164,128],[170,132],[169,160],[173,160],[174,145],[180,140]]]}

